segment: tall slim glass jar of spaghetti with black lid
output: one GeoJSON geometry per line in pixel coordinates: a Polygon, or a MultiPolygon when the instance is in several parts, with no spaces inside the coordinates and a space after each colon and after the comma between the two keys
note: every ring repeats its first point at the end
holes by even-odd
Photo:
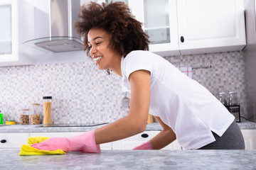
{"type": "Polygon", "coordinates": [[[50,118],[51,102],[52,102],[51,96],[43,96],[43,111],[44,111],[43,125],[52,124],[52,120],[50,118]]]}

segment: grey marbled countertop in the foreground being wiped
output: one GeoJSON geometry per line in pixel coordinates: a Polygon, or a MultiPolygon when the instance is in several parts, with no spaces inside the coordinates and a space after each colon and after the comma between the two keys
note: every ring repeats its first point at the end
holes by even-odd
{"type": "Polygon", "coordinates": [[[255,169],[256,150],[102,150],[19,156],[1,149],[0,169],[255,169]]]}

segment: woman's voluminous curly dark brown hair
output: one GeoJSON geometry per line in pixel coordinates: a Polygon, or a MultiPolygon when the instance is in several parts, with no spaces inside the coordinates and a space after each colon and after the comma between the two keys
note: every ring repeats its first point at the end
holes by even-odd
{"type": "Polygon", "coordinates": [[[102,28],[110,35],[110,47],[120,55],[126,56],[133,50],[149,50],[149,35],[142,30],[142,23],[132,15],[124,2],[102,3],[91,1],[83,4],[74,26],[84,41],[84,51],[89,55],[87,34],[92,28],[102,28]]]}

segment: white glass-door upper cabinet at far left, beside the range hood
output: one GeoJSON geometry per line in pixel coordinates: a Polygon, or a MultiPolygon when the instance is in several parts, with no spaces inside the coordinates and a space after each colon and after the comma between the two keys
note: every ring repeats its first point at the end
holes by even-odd
{"type": "Polygon", "coordinates": [[[23,0],[0,1],[0,67],[31,64],[22,41],[33,33],[33,7],[23,0]],[[21,19],[26,18],[26,19],[21,19]]]}

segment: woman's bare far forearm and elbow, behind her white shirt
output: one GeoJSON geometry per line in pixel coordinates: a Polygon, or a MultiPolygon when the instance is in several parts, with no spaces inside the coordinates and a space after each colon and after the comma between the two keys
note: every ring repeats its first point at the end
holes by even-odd
{"type": "Polygon", "coordinates": [[[156,118],[156,120],[160,123],[163,130],[149,140],[149,142],[151,143],[153,149],[162,149],[176,140],[176,134],[161,120],[161,118],[157,116],[154,116],[154,118],[156,118]]]}

